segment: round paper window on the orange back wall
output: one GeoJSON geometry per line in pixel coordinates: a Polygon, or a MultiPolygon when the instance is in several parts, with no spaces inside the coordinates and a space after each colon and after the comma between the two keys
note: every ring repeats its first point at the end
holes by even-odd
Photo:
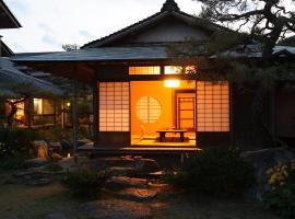
{"type": "Polygon", "coordinates": [[[142,123],[156,123],[161,116],[161,105],[152,96],[143,96],[137,102],[137,116],[142,123]]]}

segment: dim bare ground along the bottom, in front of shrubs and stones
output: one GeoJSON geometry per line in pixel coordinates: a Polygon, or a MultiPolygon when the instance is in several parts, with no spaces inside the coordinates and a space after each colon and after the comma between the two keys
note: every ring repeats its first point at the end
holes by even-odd
{"type": "Polygon", "coordinates": [[[60,184],[43,187],[0,186],[0,218],[194,218],[194,219],[279,219],[261,207],[239,199],[169,195],[152,201],[102,197],[94,203],[73,199],[60,184]],[[125,217],[123,217],[125,216],[125,217]]]}

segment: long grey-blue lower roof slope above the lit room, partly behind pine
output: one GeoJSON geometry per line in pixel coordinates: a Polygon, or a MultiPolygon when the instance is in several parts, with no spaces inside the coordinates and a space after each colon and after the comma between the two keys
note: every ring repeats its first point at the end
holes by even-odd
{"type": "MultiPolygon", "coordinates": [[[[295,55],[295,47],[276,46],[274,54],[283,50],[295,55]]],[[[231,58],[261,58],[261,49],[256,46],[248,50],[228,50],[211,58],[231,57],[231,58]]],[[[280,56],[283,57],[283,56],[280,56]]],[[[168,55],[167,47],[98,47],[91,49],[80,49],[76,51],[60,51],[40,56],[14,57],[12,60],[20,64],[38,62],[125,62],[125,61],[165,61],[174,57],[168,55]]]]}

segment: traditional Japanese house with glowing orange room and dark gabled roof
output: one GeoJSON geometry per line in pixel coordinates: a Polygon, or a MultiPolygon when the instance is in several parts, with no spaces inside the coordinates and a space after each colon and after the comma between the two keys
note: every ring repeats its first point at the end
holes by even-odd
{"type": "MultiPolygon", "coordinates": [[[[196,59],[181,62],[169,51],[188,41],[202,46],[220,31],[226,30],[187,14],[167,0],[160,12],[80,50],[15,61],[93,87],[94,151],[190,151],[233,143],[257,147],[247,132],[256,128],[249,107],[253,94],[239,93],[228,81],[188,73],[203,69],[196,59]]],[[[270,107],[278,104],[275,100],[270,107]]],[[[281,116],[273,111],[266,114],[275,135],[281,116]]],[[[295,137],[294,129],[290,137],[295,137]]]]}

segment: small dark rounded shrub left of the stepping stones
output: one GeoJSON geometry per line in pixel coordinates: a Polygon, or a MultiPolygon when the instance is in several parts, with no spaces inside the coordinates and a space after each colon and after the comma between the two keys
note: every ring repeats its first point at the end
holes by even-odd
{"type": "Polygon", "coordinates": [[[107,178],[104,172],[78,170],[68,172],[62,183],[76,197],[95,198],[105,186],[107,178]]]}

